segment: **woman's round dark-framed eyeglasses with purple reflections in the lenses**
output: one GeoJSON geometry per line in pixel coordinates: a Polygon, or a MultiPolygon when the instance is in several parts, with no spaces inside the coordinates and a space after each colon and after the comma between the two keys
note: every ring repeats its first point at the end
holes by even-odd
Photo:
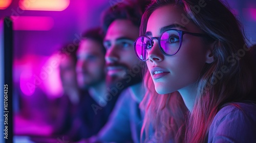
{"type": "Polygon", "coordinates": [[[182,45],[182,38],[184,34],[200,36],[200,37],[209,37],[206,34],[190,33],[190,32],[185,32],[181,30],[170,29],[170,30],[164,31],[160,37],[149,38],[147,36],[140,36],[134,42],[135,53],[141,61],[148,60],[148,57],[147,57],[148,50],[153,47],[154,45],[153,40],[157,39],[161,52],[166,56],[173,56],[180,50],[180,47],[182,45]]]}

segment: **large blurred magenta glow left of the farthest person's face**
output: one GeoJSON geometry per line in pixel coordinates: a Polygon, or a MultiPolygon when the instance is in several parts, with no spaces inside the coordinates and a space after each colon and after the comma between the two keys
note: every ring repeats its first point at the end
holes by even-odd
{"type": "Polygon", "coordinates": [[[19,87],[26,96],[42,91],[48,98],[62,96],[62,84],[59,76],[59,55],[51,57],[28,55],[22,60],[14,62],[14,69],[18,70],[19,87]],[[39,89],[37,89],[39,88],[39,89]]]}

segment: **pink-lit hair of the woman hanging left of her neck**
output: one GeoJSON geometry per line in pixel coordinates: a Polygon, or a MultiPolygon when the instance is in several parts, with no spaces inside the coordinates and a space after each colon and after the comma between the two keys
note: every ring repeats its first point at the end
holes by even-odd
{"type": "Polygon", "coordinates": [[[179,139],[176,138],[176,133],[184,124],[184,116],[188,111],[180,93],[176,91],[158,94],[148,70],[144,74],[143,83],[146,94],[140,103],[140,108],[145,111],[141,142],[166,142],[170,139],[179,139]],[[154,133],[151,132],[152,130],[154,133]]]}

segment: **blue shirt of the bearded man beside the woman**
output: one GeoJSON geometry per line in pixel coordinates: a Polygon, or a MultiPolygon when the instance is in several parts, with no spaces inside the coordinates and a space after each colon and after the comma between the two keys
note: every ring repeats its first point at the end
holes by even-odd
{"type": "Polygon", "coordinates": [[[102,142],[140,142],[142,127],[139,103],[132,98],[132,90],[124,90],[111,113],[108,123],[101,129],[97,140],[102,142]]]}

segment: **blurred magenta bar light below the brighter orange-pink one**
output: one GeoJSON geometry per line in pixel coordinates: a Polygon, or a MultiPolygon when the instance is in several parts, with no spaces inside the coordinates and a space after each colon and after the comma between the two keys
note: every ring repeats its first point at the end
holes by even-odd
{"type": "Polygon", "coordinates": [[[43,16],[11,16],[13,30],[48,31],[53,28],[52,17],[43,16]]]}

